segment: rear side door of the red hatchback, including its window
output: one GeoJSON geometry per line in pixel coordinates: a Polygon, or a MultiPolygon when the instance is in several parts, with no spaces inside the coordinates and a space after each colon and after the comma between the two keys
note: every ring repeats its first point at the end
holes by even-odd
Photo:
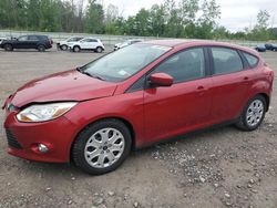
{"type": "Polygon", "coordinates": [[[216,122],[238,117],[250,82],[253,70],[247,70],[235,49],[212,46],[209,49],[213,73],[212,117],[216,122]]]}

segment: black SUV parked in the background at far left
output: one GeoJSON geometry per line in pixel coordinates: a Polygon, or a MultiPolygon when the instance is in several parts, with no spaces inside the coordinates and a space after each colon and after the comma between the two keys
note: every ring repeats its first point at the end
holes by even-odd
{"type": "Polygon", "coordinates": [[[47,35],[22,35],[18,39],[3,40],[0,48],[6,51],[12,51],[13,49],[38,49],[39,51],[45,51],[45,49],[51,49],[53,41],[47,35]]]}

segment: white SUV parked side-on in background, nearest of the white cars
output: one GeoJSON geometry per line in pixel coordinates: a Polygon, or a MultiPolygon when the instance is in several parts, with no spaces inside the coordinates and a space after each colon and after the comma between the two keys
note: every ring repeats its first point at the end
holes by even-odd
{"type": "Polygon", "coordinates": [[[102,53],[105,50],[104,44],[101,42],[101,40],[95,38],[84,38],[81,41],[69,43],[69,46],[70,51],[73,52],[86,50],[102,53]]]}

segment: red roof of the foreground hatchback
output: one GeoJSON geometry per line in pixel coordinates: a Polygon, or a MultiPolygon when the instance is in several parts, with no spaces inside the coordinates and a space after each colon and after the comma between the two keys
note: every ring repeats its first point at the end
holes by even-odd
{"type": "Polygon", "coordinates": [[[240,46],[237,44],[232,44],[228,42],[217,42],[217,41],[207,41],[207,40],[186,40],[186,39],[166,39],[166,40],[151,40],[145,41],[143,43],[146,44],[155,44],[162,46],[171,46],[171,48],[186,48],[186,46],[226,46],[246,51],[248,53],[253,53],[258,55],[258,53],[246,46],[240,46]]]}

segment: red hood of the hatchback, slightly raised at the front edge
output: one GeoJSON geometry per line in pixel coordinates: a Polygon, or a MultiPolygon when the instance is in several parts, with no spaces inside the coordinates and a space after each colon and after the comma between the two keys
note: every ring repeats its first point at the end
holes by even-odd
{"type": "Polygon", "coordinates": [[[12,95],[11,102],[21,107],[30,103],[85,101],[112,96],[116,86],[72,70],[27,83],[12,95]]]}

